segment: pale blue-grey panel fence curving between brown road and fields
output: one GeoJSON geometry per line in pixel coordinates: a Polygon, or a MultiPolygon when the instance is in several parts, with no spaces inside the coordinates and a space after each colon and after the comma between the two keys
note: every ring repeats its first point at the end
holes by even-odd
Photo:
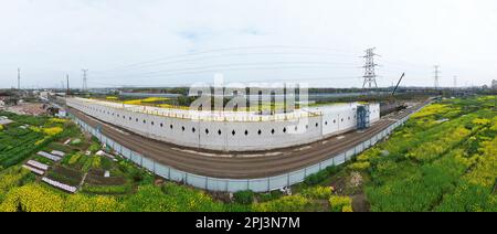
{"type": "MultiPolygon", "coordinates": [[[[412,115],[412,114],[411,114],[412,115]]],[[[160,164],[154,160],[135,152],[126,147],[113,141],[110,138],[102,135],[98,130],[91,127],[83,120],[71,115],[71,117],[84,130],[91,132],[93,136],[97,137],[101,142],[107,145],[109,148],[114,149],[116,152],[120,153],[124,158],[135,162],[136,164],[149,170],[150,172],[165,178],[167,180],[172,180],[177,182],[184,182],[189,185],[204,189],[209,191],[224,191],[224,192],[236,192],[243,190],[252,190],[254,192],[267,192],[273,190],[278,190],[285,187],[289,187],[296,183],[300,183],[304,179],[310,174],[317,173],[320,170],[326,169],[330,166],[339,166],[348,160],[352,159],[355,156],[361,153],[366,149],[374,146],[378,141],[389,136],[395,128],[402,126],[410,116],[399,119],[394,124],[390,125],[387,129],[374,135],[372,138],[357,145],[356,147],[346,150],[338,156],[330,156],[328,160],[319,162],[317,164],[304,168],[294,172],[286,174],[262,178],[262,179],[219,179],[204,176],[192,174],[184,171],[176,170],[171,167],[160,164]]]]}

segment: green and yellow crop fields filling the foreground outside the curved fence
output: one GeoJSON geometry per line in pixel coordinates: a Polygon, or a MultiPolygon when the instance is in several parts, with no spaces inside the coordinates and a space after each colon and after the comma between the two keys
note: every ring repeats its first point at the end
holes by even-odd
{"type": "Polygon", "coordinates": [[[20,125],[55,124],[10,116],[17,124],[0,131],[0,211],[497,211],[495,98],[434,103],[352,161],[294,185],[292,195],[243,191],[233,199],[160,180],[123,159],[96,157],[101,146],[77,129],[55,135],[77,137],[82,142],[75,146],[54,137],[31,147],[46,134],[20,125]],[[20,168],[38,148],[68,152],[49,177],[77,184],[86,176],[78,192],[62,192],[20,168]]]}

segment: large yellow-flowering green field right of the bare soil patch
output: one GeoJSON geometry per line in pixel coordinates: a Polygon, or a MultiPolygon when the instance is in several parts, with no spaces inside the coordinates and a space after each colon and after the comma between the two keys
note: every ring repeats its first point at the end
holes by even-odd
{"type": "Polygon", "coordinates": [[[371,211],[495,211],[497,117],[482,106],[476,99],[432,105],[359,156],[356,163],[367,162],[371,177],[371,211]]]}

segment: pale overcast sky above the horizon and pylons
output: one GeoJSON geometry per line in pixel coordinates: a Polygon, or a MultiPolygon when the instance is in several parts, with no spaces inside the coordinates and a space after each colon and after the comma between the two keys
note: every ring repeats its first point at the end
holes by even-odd
{"type": "Polygon", "coordinates": [[[497,78],[495,0],[0,0],[0,87],[302,81],[362,86],[376,46],[380,86],[497,78]]]}

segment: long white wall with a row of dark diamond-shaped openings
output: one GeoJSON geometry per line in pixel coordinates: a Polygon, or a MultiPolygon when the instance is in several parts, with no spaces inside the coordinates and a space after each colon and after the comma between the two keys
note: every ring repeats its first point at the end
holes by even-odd
{"type": "MultiPolygon", "coordinates": [[[[148,138],[225,151],[257,151],[304,145],[351,130],[357,125],[357,104],[313,109],[322,116],[272,121],[192,120],[142,114],[75,98],[68,98],[67,105],[148,138]]],[[[373,109],[378,109],[379,117],[379,105],[373,109]]]]}

